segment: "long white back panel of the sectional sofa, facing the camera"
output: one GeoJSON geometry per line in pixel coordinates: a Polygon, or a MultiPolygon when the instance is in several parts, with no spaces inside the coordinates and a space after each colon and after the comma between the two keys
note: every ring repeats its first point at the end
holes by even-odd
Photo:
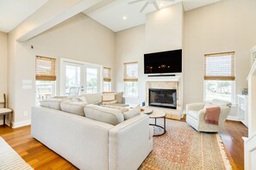
{"type": "Polygon", "coordinates": [[[31,135],[79,169],[107,170],[111,124],[32,106],[31,135]]]}

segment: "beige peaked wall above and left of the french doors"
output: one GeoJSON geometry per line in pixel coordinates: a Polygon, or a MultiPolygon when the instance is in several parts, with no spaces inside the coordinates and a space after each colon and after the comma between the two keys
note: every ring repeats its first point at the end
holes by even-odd
{"type": "Polygon", "coordinates": [[[84,14],[76,15],[26,42],[16,42],[17,32],[18,29],[9,36],[10,43],[16,47],[10,50],[13,52],[10,58],[13,63],[10,67],[15,67],[16,70],[9,71],[10,76],[14,77],[10,82],[15,82],[11,89],[15,89],[12,106],[15,110],[16,124],[22,121],[28,122],[30,119],[35,88],[33,86],[32,89],[22,89],[22,80],[34,82],[36,55],[57,59],[57,92],[59,91],[59,58],[71,58],[114,67],[115,33],[84,14]],[[34,49],[30,46],[34,46],[34,49]],[[23,115],[24,111],[28,111],[27,117],[23,115]]]}

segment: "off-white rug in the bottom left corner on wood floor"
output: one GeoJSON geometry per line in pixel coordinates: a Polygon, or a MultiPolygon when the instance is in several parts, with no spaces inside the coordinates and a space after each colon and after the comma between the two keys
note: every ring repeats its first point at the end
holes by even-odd
{"type": "Polygon", "coordinates": [[[0,137],[0,169],[1,170],[30,170],[26,161],[0,137]]]}

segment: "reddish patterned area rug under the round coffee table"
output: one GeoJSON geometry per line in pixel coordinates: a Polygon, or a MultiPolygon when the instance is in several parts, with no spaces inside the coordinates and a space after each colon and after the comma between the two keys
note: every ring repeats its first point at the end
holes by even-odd
{"type": "Polygon", "coordinates": [[[217,133],[197,132],[189,124],[166,119],[165,135],[153,137],[153,151],[139,169],[222,170],[232,167],[217,133]]]}

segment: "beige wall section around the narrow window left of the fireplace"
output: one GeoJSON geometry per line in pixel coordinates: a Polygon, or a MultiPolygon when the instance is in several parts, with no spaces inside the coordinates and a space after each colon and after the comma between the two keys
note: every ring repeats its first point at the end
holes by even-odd
{"type": "Polygon", "coordinates": [[[128,103],[140,103],[145,100],[144,59],[145,25],[132,27],[116,33],[116,91],[123,91],[124,63],[138,62],[139,64],[139,98],[126,99],[128,103]]]}

